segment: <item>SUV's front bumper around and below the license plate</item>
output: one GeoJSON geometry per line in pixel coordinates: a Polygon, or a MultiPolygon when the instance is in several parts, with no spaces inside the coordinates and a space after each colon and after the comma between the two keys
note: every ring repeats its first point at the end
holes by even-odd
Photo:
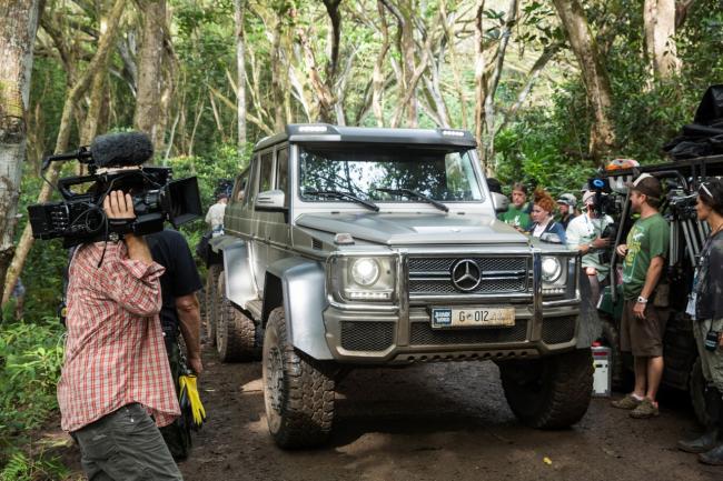
{"type": "Polygon", "coordinates": [[[340,311],[324,315],[326,341],[341,362],[387,364],[429,360],[535,358],[572,350],[578,309],[545,309],[536,321],[528,305],[515,305],[512,328],[433,329],[428,308],[413,308],[408,319],[395,314],[340,311]]]}

